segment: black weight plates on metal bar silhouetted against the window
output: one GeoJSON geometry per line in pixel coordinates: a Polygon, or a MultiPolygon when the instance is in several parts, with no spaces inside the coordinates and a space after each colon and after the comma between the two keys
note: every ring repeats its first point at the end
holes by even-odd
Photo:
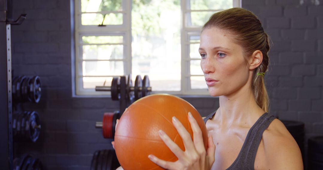
{"type": "MultiPolygon", "coordinates": [[[[96,86],[95,91],[111,91],[112,100],[120,99],[120,77],[114,77],[111,82],[111,86],[96,86]]],[[[126,98],[128,100],[140,99],[141,97],[149,95],[151,92],[150,82],[148,75],[144,76],[144,79],[141,79],[140,75],[136,76],[135,86],[132,86],[131,74],[127,76],[126,84],[126,98]]]]}

